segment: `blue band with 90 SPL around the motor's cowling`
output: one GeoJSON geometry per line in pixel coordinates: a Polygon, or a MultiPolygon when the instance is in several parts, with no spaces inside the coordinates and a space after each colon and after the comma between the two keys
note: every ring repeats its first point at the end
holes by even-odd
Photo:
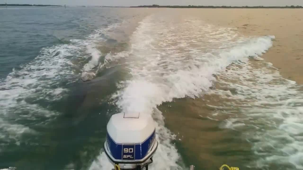
{"type": "Polygon", "coordinates": [[[111,155],[113,156],[114,159],[117,159],[117,160],[140,160],[140,159],[143,159],[146,156],[148,150],[153,146],[153,144],[155,142],[155,138],[156,138],[155,135],[156,135],[156,133],[154,131],[151,134],[151,136],[149,136],[142,143],[124,144],[124,146],[123,146],[122,143],[116,143],[109,136],[109,134],[107,133],[106,142],[107,142],[107,146],[108,146],[108,148],[111,152],[111,155]],[[133,148],[135,154],[133,154],[133,153],[128,154],[128,151],[132,151],[132,149],[129,150],[129,148],[133,148]],[[127,156],[127,155],[131,155],[131,156],[127,156]]]}

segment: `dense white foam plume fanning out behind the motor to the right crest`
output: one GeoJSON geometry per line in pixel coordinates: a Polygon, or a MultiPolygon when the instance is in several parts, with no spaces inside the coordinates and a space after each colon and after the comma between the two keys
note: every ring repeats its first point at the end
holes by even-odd
{"type": "MultiPolygon", "coordinates": [[[[149,16],[133,33],[132,53],[127,58],[132,78],[120,83],[113,98],[126,114],[153,115],[160,144],[152,169],[182,169],[181,157],[171,143],[175,136],[164,126],[157,106],[173,98],[201,96],[215,81],[213,74],[232,62],[248,62],[249,56],[266,52],[272,37],[240,38],[234,29],[197,20],[178,23],[166,19],[158,22],[157,17],[149,16]]],[[[105,162],[101,152],[91,169],[109,168],[105,162]]]]}

